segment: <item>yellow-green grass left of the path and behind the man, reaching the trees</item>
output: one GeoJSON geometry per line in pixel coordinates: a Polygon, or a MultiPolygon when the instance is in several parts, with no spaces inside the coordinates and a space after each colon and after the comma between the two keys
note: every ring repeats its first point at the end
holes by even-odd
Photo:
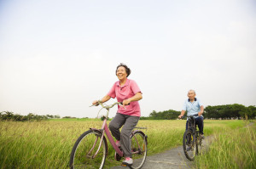
{"type": "MultiPolygon", "coordinates": [[[[137,126],[148,127],[143,130],[148,155],[181,145],[185,122],[139,121],[137,126]]],[[[205,121],[205,134],[242,126],[242,121],[205,121]]],[[[0,121],[0,168],[67,168],[73,144],[90,127],[100,128],[102,121],[0,121]]],[[[120,164],[113,156],[108,143],[106,168],[120,164]]]]}

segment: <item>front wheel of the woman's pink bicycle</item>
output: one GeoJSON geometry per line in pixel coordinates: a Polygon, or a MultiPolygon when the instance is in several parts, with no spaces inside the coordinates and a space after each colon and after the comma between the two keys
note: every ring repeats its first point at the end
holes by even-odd
{"type": "Polygon", "coordinates": [[[77,168],[103,168],[108,144],[102,132],[89,130],[84,132],[73,146],[69,166],[77,168]]]}

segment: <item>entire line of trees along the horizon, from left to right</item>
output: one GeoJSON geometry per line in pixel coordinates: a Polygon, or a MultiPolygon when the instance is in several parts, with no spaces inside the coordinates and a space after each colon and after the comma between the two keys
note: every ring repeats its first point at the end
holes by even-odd
{"type": "MultiPolygon", "coordinates": [[[[141,120],[175,120],[180,115],[177,110],[165,110],[156,112],[153,110],[148,116],[141,116],[141,120]]],[[[205,119],[256,119],[256,107],[254,105],[244,106],[242,104],[208,105],[203,113],[205,119]]],[[[0,121],[44,121],[48,119],[59,119],[60,115],[18,115],[13,112],[0,112],[0,121]]],[[[65,116],[62,118],[76,118],[65,116]]]]}

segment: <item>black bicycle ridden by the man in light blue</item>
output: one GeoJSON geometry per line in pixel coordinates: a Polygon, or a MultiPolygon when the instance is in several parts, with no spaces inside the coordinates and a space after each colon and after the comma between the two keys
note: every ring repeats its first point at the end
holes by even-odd
{"type": "Polygon", "coordinates": [[[183,134],[183,151],[189,161],[195,160],[195,155],[201,155],[202,138],[195,125],[195,116],[188,115],[188,130],[183,134]]]}

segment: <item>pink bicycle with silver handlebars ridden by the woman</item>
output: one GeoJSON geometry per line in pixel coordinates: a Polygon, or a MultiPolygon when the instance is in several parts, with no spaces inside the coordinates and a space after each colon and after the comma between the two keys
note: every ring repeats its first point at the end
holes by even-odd
{"type": "MultiPolygon", "coordinates": [[[[110,108],[112,108],[115,104],[122,104],[121,102],[116,102],[110,105],[104,105],[102,102],[98,102],[102,105],[102,109],[106,109],[106,116],[104,115],[102,128],[90,128],[87,132],[84,132],[76,141],[73,146],[69,166],[71,169],[77,168],[103,168],[106,157],[108,155],[108,144],[107,139],[105,137],[105,133],[107,135],[108,141],[110,145],[112,145],[115,150],[114,158],[116,161],[120,161],[124,156],[123,151],[120,147],[118,147],[109,132],[107,120],[108,113],[110,108]]],[[[101,109],[101,110],[102,110],[101,109]]],[[[101,111],[100,110],[100,111],[101,111]]],[[[99,111],[99,112],[100,112],[99,111]]],[[[137,129],[147,129],[146,127],[135,127],[137,129]]],[[[146,156],[147,156],[147,141],[148,136],[140,131],[133,130],[131,132],[131,154],[132,159],[137,159],[133,161],[132,169],[142,168],[146,156]]]]}

